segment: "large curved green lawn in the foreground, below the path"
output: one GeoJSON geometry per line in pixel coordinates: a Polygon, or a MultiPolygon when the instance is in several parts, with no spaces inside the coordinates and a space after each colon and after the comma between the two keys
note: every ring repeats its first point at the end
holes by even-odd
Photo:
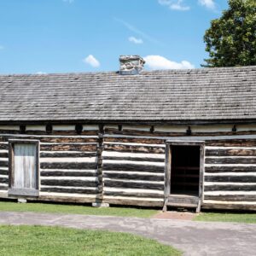
{"type": "Polygon", "coordinates": [[[157,241],[99,230],[0,225],[0,255],[181,255],[157,241]]]}

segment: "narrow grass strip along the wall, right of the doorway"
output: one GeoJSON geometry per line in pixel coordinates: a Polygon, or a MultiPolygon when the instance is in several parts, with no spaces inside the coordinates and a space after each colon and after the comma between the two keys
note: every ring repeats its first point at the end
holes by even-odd
{"type": "Polygon", "coordinates": [[[256,224],[256,213],[232,213],[232,212],[201,212],[193,220],[195,221],[220,221],[240,222],[256,224]]]}

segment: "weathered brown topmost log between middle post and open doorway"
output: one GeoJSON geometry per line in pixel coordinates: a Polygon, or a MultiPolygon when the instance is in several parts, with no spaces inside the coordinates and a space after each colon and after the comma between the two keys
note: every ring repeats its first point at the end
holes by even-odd
{"type": "Polygon", "coordinates": [[[104,135],[104,142],[111,143],[143,143],[143,144],[165,144],[166,139],[159,138],[138,138],[138,137],[108,137],[104,135]]]}

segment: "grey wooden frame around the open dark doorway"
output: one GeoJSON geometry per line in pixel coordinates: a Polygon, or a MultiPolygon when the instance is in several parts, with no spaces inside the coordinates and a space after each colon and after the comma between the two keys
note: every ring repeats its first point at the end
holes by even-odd
{"type": "Polygon", "coordinates": [[[199,200],[203,200],[205,141],[166,141],[166,166],[165,166],[165,200],[171,195],[172,172],[172,146],[199,146],[200,147],[200,174],[199,174],[199,200]]]}

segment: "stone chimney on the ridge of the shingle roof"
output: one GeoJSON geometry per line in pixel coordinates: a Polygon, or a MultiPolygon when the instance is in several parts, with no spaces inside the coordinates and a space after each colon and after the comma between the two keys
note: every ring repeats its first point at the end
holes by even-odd
{"type": "Polygon", "coordinates": [[[139,55],[120,55],[120,70],[119,74],[121,75],[132,75],[138,74],[143,70],[145,61],[139,55]]]}

